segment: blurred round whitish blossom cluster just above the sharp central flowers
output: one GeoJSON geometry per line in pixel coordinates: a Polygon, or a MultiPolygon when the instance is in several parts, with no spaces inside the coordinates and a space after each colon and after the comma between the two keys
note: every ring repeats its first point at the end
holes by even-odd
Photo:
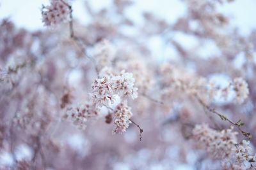
{"type": "Polygon", "coordinates": [[[93,58],[97,61],[98,67],[109,66],[115,57],[114,46],[106,39],[100,41],[93,48],[93,58]]]}

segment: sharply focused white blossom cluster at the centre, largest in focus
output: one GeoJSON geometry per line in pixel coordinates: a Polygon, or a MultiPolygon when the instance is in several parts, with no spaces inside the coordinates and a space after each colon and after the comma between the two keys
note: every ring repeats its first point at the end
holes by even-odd
{"type": "Polygon", "coordinates": [[[106,74],[97,78],[92,84],[92,99],[97,106],[109,106],[115,101],[115,95],[121,98],[138,97],[138,88],[134,87],[132,73],[121,71],[118,75],[106,74]]]}

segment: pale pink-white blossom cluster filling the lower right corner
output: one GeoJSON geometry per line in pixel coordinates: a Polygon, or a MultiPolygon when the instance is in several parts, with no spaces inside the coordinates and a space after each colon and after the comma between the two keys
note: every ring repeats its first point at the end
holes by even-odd
{"type": "Polygon", "coordinates": [[[252,153],[250,141],[243,140],[237,143],[237,132],[233,132],[233,129],[230,127],[230,129],[215,131],[205,124],[196,125],[193,136],[214,159],[232,160],[237,167],[243,169],[246,163],[255,162],[255,156],[250,155],[252,153]]]}

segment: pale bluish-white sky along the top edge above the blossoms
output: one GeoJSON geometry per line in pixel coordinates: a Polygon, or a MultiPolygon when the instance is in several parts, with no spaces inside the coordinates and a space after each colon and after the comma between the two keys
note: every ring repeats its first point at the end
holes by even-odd
{"type": "MultiPolygon", "coordinates": [[[[74,0],[74,17],[86,22],[86,13],[83,8],[84,0],[74,0]]],[[[108,6],[111,0],[90,1],[93,8],[108,6]]],[[[44,29],[41,22],[40,7],[42,4],[49,3],[48,0],[1,0],[0,18],[10,17],[19,27],[30,30],[44,29]]],[[[174,22],[177,17],[182,15],[186,8],[180,0],[136,0],[136,5],[132,7],[129,16],[136,22],[140,22],[141,11],[153,11],[159,17],[166,18],[169,22],[174,22]]],[[[228,16],[232,17],[232,24],[237,25],[241,32],[248,34],[251,29],[256,28],[256,1],[255,0],[236,0],[220,7],[228,16]]]]}

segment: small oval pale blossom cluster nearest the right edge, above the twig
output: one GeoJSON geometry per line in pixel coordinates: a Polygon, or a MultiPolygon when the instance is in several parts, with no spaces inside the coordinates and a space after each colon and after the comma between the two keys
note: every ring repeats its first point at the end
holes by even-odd
{"type": "Polygon", "coordinates": [[[246,83],[243,78],[235,78],[233,86],[236,92],[236,101],[243,103],[249,95],[248,83],[246,83]]]}

